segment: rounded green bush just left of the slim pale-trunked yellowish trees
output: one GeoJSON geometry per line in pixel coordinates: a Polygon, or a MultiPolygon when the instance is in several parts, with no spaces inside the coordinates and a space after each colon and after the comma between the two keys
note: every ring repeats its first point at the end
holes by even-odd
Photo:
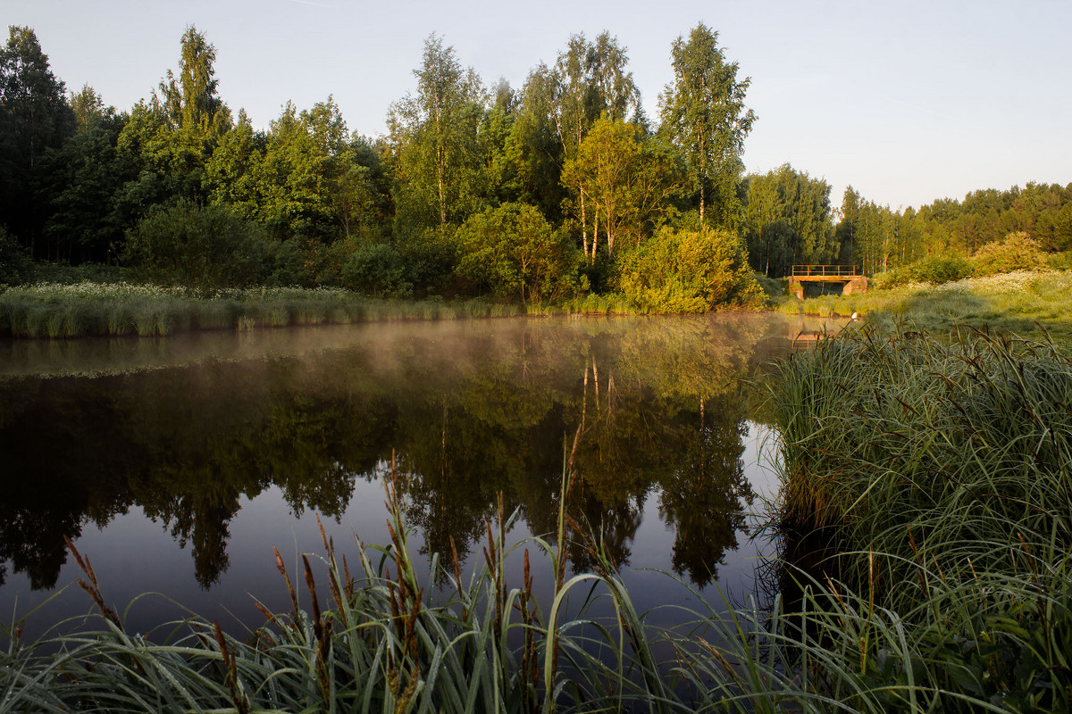
{"type": "Polygon", "coordinates": [[[522,303],[569,291],[574,256],[561,232],[538,210],[505,203],[471,217],[458,229],[458,274],[522,303]]]}

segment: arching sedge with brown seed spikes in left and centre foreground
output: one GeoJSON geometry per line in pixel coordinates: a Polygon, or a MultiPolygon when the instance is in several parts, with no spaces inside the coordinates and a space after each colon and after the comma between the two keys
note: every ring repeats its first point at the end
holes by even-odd
{"type": "MultiPolygon", "coordinates": [[[[130,634],[106,604],[89,558],[69,543],[86,573],[78,582],[95,604],[99,628],[29,648],[9,631],[0,712],[551,712],[607,711],[627,702],[642,702],[647,711],[693,711],[700,693],[685,699],[674,694],[649,642],[654,633],[644,628],[605,557],[599,573],[565,579],[561,537],[507,550],[505,534],[516,516],[505,516],[501,501],[498,517],[487,526],[483,562],[465,581],[457,553],[446,563],[434,557],[432,573],[447,583],[435,590],[417,578],[404,505],[390,485],[387,505],[390,545],[358,544],[354,571],[326,536],[318,564],[326,568],[315,568],[326,569],[326,579],[314,577],[311,557],[302,556],[295,573],[277,551],[293,609],[262,607],[266,623],[245,639],[194,614],[130,634]],[[546,556],[541,561],[555,579],[547,614],[533,595],[528,548],[546,556]],[[524,559],[523,579],[510,587],[504,564],[517,556],[524,559]],[[604,597],[616,617],[599,622],[586,611],[604,597]],[[578,609],[577,602],[586,606],[578,609]]],[[[590,547],[601,556],[594,542],[590,547]]]]}

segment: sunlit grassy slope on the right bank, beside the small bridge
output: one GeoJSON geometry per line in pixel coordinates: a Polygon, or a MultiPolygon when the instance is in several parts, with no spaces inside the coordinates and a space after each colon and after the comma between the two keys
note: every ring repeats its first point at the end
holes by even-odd
{"type": "Polygon", "coordinates": [[[1072,271],[1022,271],[971,277],[942,285],[909,284],[860,295],[787,298],[778,310],[867,316],[887,333],[898,321],[949,333],[959,325],[1041,336],[1039,325],[1072,338],[1072,271]]]}

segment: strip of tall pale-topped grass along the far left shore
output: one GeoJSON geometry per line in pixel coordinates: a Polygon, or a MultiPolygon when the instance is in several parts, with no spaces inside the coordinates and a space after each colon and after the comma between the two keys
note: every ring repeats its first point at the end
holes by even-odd
{"type": "Polygon", "coordinates": [[[129,283],[38,284],[0,292],[0,335],[168,335],[293,324],[516,315],[480,300],[375,300],[342,289],[251,288],[200,294],[129,283]]]}

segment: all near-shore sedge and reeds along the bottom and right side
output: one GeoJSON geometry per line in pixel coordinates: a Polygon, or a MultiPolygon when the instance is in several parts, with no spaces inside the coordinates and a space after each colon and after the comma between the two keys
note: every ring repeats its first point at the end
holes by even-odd
{"type": "Polygon", "coordinates": [[[568,465],[556,534],[506,552],[501,506],[467,584],[453,557],[433,558],[447,583],[436,590],[414,575],[388,486],[392,544],[340,563],[324,538],[326,580],[308,557],[304,573],[278,561],[293,611],[264,610],[244,639],[196,614],[126,633],[72,548],[98,629],[24,644],[18,623],[5,626],[2,711],[1069,711],[1068,354],[1049,340],[864,326],[765,384],[785,465],[766,602],[696,611],[668,633],[645,625],[597,541],[585,544],[594,572],[567,578],[568,465]],[[816,534],[833,555],[808,563],[794,537],[816,534]],[[523,548],[549,557],[551,602],[534,601],[527,566],[505,581],[506,559],[527,565],[523,548]],[[567,604],[592,597],[616,617],[567,604]]]}

